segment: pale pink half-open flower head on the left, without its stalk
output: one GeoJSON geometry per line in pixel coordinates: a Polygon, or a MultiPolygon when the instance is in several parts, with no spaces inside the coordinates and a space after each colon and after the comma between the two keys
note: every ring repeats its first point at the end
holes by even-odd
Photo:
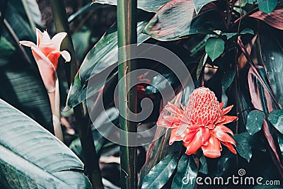
{"type": "Polygon", "coordinates": [[[51,93],[55,90],[58,58],[62,55],[66,62],[71,60],[69,52],[66,50],[60,51],[62,40],[67,36],[67,33],[57,33],[50,39],[46,30],[42,33],[40,30],[36,29],[36,35],[37,45],[25,40],[20,41],[20,44],[31,48],[45,88],[48,93],[51,93]]]}

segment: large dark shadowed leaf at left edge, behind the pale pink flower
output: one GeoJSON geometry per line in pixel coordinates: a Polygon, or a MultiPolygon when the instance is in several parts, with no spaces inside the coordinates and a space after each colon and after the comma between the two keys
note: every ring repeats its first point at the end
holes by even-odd
{"type": "Polygon", "coordinates": [[[53,132],[47,91],[35,65],[23,60],[4,36],[0,40],[0,98],[53,132]]]}

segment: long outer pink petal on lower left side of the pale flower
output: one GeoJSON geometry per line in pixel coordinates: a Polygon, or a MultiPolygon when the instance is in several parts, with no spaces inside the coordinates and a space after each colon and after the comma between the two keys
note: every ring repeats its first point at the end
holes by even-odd
{"type": "Polygon", "coordinates": [[[45,84],[45,88],[48,93],[52,93],[55,90],[55,81],[57,79],[56,70],[50,60],[45,57],[37,47],[31,47],[31,50],[35,62],[37,63],[37,67],[40,70],[40,75],[45,84]]]}

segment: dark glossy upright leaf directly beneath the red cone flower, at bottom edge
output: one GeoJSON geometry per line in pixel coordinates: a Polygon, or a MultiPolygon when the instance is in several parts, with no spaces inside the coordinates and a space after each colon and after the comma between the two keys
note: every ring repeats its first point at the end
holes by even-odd
{"type": "Polygon", "coordinates": [[[184,154],[178,162],[177,173],[173,178],[171,188],[189,188],[195,187],[197,179],[197,165],[195,164],[193,156],[184,154]]]}

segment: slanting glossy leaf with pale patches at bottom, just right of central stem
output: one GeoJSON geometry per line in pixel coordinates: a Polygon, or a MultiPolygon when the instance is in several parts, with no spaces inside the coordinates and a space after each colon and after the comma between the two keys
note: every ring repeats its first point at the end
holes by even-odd
{"type": "Polygon", "coordinates": [[[178,164],[178,153],[169,154],[159,161],[144,178],[141,188],[162,188],[178,164]]]}

